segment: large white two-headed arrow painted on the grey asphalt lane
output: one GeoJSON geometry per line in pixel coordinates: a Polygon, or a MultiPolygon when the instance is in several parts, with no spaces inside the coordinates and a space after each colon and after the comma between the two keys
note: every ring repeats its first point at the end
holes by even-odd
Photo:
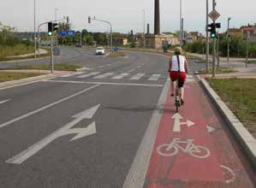
{"type": "Polygon", "coordinates": [[[95,134],[96,133],[95,122],[93,122],[86,128],[71,128],[71,127],[75,126],[81,120],[92,119],[93,115],[95,115],[99,106],[100,104],[98,104],[95,107],[92,107],[91,109],[87,109],[86,111],[81,112],[77,115],[74,115],[73,118],[75,119],[69,122],[66,126],[63,126],[62,128],[58,129],[56,132],[52,132],[48,137],[40,140],[36,144],[33,144],[27,150],[22,151],[20,154],[10,158],[6,162],[13,163],[13,164],[21,164],[22,162],[25,162],[29,157],[39,152],[39,150],[42,150],[46,145],[50,144],[53,140],[55,140],[56,138],[62,137],[64,135],[74,134],[74,133],[77,134],[74,138],[69,140],[69,141],[74,141],[75,139],[79,139],[79,138],[83,138],[83,137],[95,134]]]}

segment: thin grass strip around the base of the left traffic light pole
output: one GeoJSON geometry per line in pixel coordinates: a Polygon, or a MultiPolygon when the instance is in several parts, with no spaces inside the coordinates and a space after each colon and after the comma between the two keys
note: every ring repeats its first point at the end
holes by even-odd
{"type": "MultiPolygon", "coordinates": [[[[69,65],[68,63],[57,63],[54,65],[55,70],[63,71],[75,71],[77,68],[82,68],[80,65],[69,65]]],[[[50,70],[51,65],[38,64],[38,65],[27,65],[27,66],[14,66],[9,69],[39,69],[39,70],[50,70]]]]}

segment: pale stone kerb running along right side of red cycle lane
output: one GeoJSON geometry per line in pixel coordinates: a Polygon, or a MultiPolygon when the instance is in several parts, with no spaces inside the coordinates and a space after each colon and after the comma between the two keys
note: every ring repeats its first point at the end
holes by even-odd
{"type": "Polygon", "coordinates": [[[200,85],[202,85],[207,95],[211,98],[211,101],[215,104],[224,120],[228,123],[229,128],[235,134],[236,140],[241,144],[242,149],[250,159],[250,162],[252,162],[253,167],[256,168],[256,139],[253,138],[251,133],[242,125],[241,121],[235,117],[227,105],[223,103],[206,80],[200,78],[199,75],[196,75],[196,78],[199,80],[200,85]]]}

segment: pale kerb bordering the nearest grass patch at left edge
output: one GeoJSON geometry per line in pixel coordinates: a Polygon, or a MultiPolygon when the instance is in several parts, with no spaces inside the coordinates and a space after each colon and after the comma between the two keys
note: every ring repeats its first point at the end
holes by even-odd
{"type": "MultiPolygon", "coordinates": [[[[59,74],[59,75],[61,75],[61,74],[59,74]]],[[[19,85],[32,84],[34,82],[38,82],[38,81],[41,81],[43,79],[50,79],[50,78],[57,77],[59,75],[50,73],[50,74],[35,76],[35,77],[27,78],[27,79],[18,79],[18,80],[6,81],[6,82],[3,82],[3,83],[0,83],[0,90],[8,89],[10,87],[15,87],[15,86],[19,86],[19,85]]]]}

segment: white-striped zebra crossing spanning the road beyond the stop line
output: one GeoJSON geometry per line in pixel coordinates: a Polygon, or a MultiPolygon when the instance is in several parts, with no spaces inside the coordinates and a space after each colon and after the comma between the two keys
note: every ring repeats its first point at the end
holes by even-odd
{"type": "MultiPolygon", "coordinates": [[[[169,79],[169,76],[167,74],[161,74],[161,73],[101,73],[101,72],[92,72],[92,73],[86,73],[86,72],[80,72],[80,73],[69,73],[66,75],[59,76],[60,78],[68,78],[68,77],[74,77],[76,79],[86,79],[86,78],[92,78],[92,79],[130,79],[130,80],[140,80],[140,79],[147,79],[149,81],[158,81],[159,79],[169,79]]],[[[193,81],[192,75],[187,75],[187,82],[193,81]]]]}

